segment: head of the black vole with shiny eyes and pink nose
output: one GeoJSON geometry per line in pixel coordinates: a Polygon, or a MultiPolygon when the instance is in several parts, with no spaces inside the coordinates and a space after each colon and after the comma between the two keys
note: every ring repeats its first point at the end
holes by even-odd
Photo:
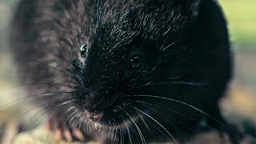
{"type": "Polygon", "coordinates": [[[78,34],[78,108],[101,124],[121,124],[136,115],[132,96],[161,95],[148,85],[182,76],[180,58],[197,6],[178,0],[98,4],[86,34],[78,34]]]}

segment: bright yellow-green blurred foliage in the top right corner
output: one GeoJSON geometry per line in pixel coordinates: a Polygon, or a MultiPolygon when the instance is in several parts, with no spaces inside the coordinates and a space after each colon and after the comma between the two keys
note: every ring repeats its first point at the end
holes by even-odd
{"type": "MultiPolygon", "coordinates": [[[[256,1],[218,0],[229,23],[231,40],[245,45],[256,45],[256,1]]],[[[252,48],[252,47],[250,47],[252,48]]]]}

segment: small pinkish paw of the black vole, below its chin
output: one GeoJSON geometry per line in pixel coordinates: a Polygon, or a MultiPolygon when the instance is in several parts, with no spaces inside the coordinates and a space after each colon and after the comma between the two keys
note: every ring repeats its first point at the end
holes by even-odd
{"type": "Polygon", "coordinates": [[[69,124],[62,121],[55,121],[54,118],[46,124],[46,128],[54,132],[54,136],[58,140],[65,140],[67,142],[88,142],[90,138],[86,138],[84,134],[78,129],[71,129],[69,124]]]}

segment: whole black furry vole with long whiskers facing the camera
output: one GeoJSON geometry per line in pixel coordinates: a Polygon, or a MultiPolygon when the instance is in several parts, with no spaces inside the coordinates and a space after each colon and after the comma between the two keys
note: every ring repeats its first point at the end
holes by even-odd
{"type": "Polygon", "coordinates": [[[228,131],[218,102],[232,58],[214,0],[22,0],[12,31],[22,82],[62,138],[182,142],[203,121],[228,131]]]}

